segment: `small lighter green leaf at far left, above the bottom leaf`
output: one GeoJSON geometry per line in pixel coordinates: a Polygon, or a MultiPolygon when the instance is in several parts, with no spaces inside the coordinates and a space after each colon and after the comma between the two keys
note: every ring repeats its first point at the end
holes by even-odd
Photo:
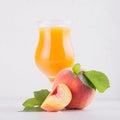
{"type": "Polygon", "coordinates": [[[33,106],[36,106],[39,104],[40,104],[40,102],[36,98],[29,98],[23,103],[23,106],[24,107],[33,107],[33,106]]]}

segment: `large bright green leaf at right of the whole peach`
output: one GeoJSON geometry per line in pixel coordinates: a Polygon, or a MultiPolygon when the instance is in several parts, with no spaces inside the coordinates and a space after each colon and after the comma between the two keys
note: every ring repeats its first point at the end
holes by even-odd
{"type": "Polygon", "coordinates": [[[103,93],[107,88],[110,87],[109,79],[102,72],[91,70],[91,71],[85,71],[83,72],[83,74],[90,80],[90,82],[101,93],[103,93]]]}

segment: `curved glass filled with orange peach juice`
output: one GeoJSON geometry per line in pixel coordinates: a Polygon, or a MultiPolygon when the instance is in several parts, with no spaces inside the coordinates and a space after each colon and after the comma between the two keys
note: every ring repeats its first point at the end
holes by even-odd
{"type": "Polygon", "coordinates": [[[57,73],[74,63],[69,21],[39,22],[39,40],[35,51],[37,67],[53,82],[57,73]]]}

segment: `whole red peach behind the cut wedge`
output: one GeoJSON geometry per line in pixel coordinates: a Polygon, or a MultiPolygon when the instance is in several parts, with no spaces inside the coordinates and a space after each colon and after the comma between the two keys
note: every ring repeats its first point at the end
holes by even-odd
{"type": "Polygon", "coordinates": [[[83,109],[93,100],[95,90],[83,84],[83,82],[71,70],[65,69],[58,73],[53,88],[60,84],[66,84],[72,93],[72,100],[67,109],[83,109]]]}

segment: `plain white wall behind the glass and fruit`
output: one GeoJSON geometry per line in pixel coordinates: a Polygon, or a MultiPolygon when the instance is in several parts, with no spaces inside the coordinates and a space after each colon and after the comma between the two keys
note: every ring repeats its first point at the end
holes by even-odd
{"type": "Polygon", "coordinates": [[[120,100],[119,0],[0,0],[0,98],[27,98],[50,85],[36,67],[37,21],[72,21],[82,68],[106,73],[111,87],[95,100],[120,100]]]}

